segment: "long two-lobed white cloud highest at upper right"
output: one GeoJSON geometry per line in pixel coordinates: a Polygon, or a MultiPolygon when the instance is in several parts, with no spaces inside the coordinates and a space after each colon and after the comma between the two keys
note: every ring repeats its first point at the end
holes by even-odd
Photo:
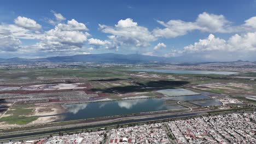
{"type": "Polygon", "coordinates": [[[185,35],[190,31],[200,30],[204,32],[232,32],[229,21],[223,15],[208,14],[206,12],[199,14],[195,22],[186,22],[182,20],[170,20],[168,22],[157,21],[165,28],[155,28],[153,33],[156,37],[175,38],[185,35]]]}

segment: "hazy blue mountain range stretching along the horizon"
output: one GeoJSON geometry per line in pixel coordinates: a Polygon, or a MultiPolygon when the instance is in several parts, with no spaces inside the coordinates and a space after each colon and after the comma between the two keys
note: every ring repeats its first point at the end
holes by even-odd
{"type": "MultiPolygon", "coordinates": [[[[94,62],[94,63],[153,63],[153,62],[166,62],[166,63],[183,63],[184,65],[200,62],[197,64],[207,63],[220,63],[220,62],[207,62],[206,59],[194,60],[186,59],[184,57],[157,57],[145,56],[139,54],[122,55],[117,53],[102,53],[102,54],[89,54],[89,55],[74,55],[74,56],[56,56],[46,58],[8,58],[1,59],[0,63],[38,63],[38,62],[94,62]],[[190,61],[189,61],[190,60],[190,61]]],[[[235,63],[248,62],[248,61],[235,61],[235,63]]],[[[226,62],[223,62],[226,63],[226,62]]]]}

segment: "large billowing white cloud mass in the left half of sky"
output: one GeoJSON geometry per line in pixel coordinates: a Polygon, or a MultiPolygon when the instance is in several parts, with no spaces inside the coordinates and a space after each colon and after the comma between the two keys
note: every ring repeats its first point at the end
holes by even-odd
{"type": "Polygon", "coordinates": [[[42,50],[61,51],[62,49],[77,50],[82,48],[90,36],[88,28],[83,23],[72,19],[67,24],[59,23],[54,29],[46,31],[40,42],[34,45],[42,50]]]}

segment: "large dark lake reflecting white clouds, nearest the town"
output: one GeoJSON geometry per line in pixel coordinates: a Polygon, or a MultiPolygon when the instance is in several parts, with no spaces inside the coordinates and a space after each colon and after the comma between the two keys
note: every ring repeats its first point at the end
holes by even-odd
{"type": "Polygon", "coordinates": [[[68,104],[63,107],[68,112],[63,113],[61,121],[186,108],[176,103],[166,104],[164,99],[157,98],[68,104]]]}

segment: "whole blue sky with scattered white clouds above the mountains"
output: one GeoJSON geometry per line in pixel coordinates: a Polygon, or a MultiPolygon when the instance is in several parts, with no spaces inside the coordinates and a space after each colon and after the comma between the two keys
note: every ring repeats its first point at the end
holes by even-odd
{"type": "Polygon", "coordinates": [[[114,52],[256,61],[255,16],[256,1],[1,1],[0,57],[114,52]]]}

